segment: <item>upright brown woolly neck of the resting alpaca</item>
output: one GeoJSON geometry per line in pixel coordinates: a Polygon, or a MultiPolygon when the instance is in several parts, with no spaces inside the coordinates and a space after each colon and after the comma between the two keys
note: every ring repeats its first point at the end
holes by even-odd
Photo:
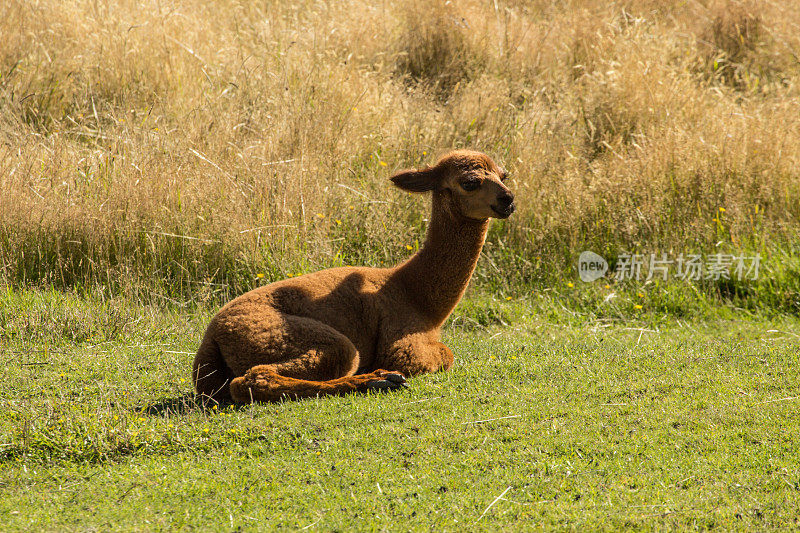
{"type": "Polygon", "coordinates": [[[449,192],[433,193],[428,234],[422,249],[398,267],[420,311],[441,326],[461,300],[486,239],[488,220],[451,213],[449,192]]]}

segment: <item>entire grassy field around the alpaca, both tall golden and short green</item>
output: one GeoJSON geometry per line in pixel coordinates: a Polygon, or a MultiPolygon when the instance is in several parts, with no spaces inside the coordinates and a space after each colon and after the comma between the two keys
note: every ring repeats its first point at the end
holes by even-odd
{"type": "Polygon", "coordinates": [[[0,529],[800,530],[799,58],[779,0],[0,2],[0,529]],[[518,210],[452,371],[195,402],[223,302],[416,251],[453,148],[518,210]]]}

